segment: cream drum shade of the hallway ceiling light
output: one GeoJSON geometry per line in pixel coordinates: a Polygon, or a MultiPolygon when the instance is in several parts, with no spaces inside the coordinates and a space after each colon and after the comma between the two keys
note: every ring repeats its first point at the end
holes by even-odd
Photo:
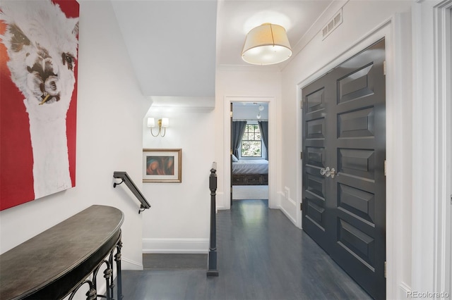
{"type": "Polygon", "coordinates": [[[283,26],[264,23],[246,35],[242,59],[254,65],[273,65],[292,56],[289,39],[283,26]]]}

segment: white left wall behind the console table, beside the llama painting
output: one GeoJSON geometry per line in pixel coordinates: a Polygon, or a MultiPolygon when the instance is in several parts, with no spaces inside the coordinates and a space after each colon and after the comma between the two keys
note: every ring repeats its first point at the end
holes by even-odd
{"type": "Polygon", "coordinates": [[[124,212],[122,266],[141,269],[138,201],[113,172],[141,187],[143,102],[109,1],[79,1],[76,187],[0,212],[1,253],[93,204],[124,212]]]}

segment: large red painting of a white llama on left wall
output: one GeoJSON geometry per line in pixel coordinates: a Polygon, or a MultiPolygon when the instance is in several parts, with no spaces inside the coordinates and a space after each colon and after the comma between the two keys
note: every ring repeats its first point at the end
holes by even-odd
{"type": "Polygon", "coordinates": [[[0,2],[0,210],[76,185],[76,0],[0,2]]]}

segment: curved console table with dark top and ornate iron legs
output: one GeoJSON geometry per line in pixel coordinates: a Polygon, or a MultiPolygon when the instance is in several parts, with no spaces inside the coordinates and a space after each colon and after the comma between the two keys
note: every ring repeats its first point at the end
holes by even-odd
{"type": "Polygon", "coordinates": [[[86,299],[97,299],[97,273],[104,270],[107,293],[101,297],[113,299],[115,261],[121,299],[123,220],[119,209],[93,205],[1,254],[0,298],[62,299],[88,290],[86,299]]]}

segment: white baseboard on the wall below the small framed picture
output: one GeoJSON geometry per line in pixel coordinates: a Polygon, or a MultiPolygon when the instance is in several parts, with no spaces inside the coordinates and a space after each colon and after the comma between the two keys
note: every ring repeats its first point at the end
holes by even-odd
{"type": "Polygon", "coordinates": [[[143,239],[144,254],[207,254],[208,238],[143,239]]]}

